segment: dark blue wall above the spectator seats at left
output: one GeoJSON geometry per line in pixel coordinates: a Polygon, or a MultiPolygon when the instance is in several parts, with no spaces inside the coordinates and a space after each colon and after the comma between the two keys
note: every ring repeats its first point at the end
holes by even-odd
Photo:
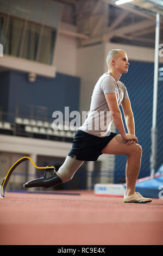
{"type": "Polygon", "coordinates": [[[0,73],[0,106],[8,112],[15,112],[16,104],[24,112],[30,109],[25,105],[48,107],[48,116],[54,111],[64,113],[65,106],[71,111],[79,111],[80,78],[57,73],[55,78],[37,77],[28,81],[27,74],[8,71],[0,73]],[[24,105],[24,107],[23,107],[24,105]]]}

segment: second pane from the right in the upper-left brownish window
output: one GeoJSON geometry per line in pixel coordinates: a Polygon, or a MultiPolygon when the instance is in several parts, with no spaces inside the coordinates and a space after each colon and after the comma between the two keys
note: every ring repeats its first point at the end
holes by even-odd
{"type": "Polygon", "coordinates": [[[39,41],[40,25],[28,22],[23,44],[22,58],[35,60],[39,41]]]}

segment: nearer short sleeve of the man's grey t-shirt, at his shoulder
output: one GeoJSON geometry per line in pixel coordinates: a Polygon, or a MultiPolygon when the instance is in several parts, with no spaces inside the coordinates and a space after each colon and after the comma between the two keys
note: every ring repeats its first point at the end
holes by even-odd
{"type": "Polygon", "coordinates": [[[101,82],[101,89],[104,94],[117,92],[116,82],[112,77],[106,76],[101,82]]]}

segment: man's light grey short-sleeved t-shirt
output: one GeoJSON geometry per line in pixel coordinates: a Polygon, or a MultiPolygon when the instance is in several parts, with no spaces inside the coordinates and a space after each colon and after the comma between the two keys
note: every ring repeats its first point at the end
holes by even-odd
{"type": "Polygon", "coordinates": [[[98,137],[110,135],[111,112],[105,99],[105,94],[115,93],[118,105],[122,100],[128,99],[127,88],[121,81],[116,83],[114,77],[109,73],[103,74],[97,81],[91,97],[91,106],[84,124],[79,127],[80,130],[98,137]]]}

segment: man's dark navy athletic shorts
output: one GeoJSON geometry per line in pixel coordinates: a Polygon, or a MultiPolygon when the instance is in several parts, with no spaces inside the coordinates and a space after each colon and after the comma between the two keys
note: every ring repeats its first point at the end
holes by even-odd
{"type": "Polygon", "coordinates": [[[97,161],[102,155],[101,151],[114,138],[117,133],[111,132],[109,136],[97,137],[82,130],[78,130],[73,138],[72,149],[68,156],[76,156],[77,160],[97,161]]]}

